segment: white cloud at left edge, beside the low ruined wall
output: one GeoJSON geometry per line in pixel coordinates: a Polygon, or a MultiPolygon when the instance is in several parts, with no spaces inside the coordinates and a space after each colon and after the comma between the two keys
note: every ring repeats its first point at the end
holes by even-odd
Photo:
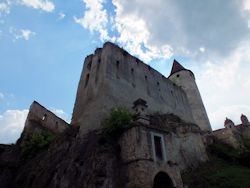
{"type": "Polygon", "coordinates": [[[0,143],[14,143],[23,131],[28,110],[7,110],[0,114],[0,143]]]}

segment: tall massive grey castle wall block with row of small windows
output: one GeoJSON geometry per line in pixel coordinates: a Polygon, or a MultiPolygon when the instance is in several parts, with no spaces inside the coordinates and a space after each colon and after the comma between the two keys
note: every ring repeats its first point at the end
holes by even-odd
{"type": "Polygon", "coordinates": [[[82,133],[100,128],[112,107],[131,109],[138,98],[147,101],[148,113],[174,113],[194,122],[181,88],[123,49],[105,43],[85,59],[72,124],[80,124],[82,133]]]}

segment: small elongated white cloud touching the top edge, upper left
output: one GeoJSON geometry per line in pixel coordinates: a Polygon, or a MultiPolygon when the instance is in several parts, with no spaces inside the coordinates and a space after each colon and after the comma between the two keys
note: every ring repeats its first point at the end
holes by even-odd
{"type": "Polygon", "coordinates": [[[41,9],[46,12],[52,12],[55,9],[54,3],[49,0],[20,0],[20,3],[27,7],[41,9]]]}

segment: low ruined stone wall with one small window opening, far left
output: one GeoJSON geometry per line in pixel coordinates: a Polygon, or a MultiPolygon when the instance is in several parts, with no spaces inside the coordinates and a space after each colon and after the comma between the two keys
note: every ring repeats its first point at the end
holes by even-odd
{"type": "Polygon", "coordinates": [[[58,134],[63,132],[68,125],[67,122],[34,101],[30,106],[23,134],[30,135],[33,132],[40,132],[41,130],[49,130],[58,134]]]}

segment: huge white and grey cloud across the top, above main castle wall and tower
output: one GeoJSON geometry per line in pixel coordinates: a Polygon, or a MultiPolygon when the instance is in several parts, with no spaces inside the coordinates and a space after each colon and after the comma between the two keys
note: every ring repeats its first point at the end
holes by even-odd
{"type": "Polygon", "coordinates": [[[173,54],[195,58],[205,51],[227,56],[249,36],[242,13],[247,1],[112,0],[114,13],[108,14],[105,0],[84,0],[84,16],[74,19],[147,62],[173,54]]]}

